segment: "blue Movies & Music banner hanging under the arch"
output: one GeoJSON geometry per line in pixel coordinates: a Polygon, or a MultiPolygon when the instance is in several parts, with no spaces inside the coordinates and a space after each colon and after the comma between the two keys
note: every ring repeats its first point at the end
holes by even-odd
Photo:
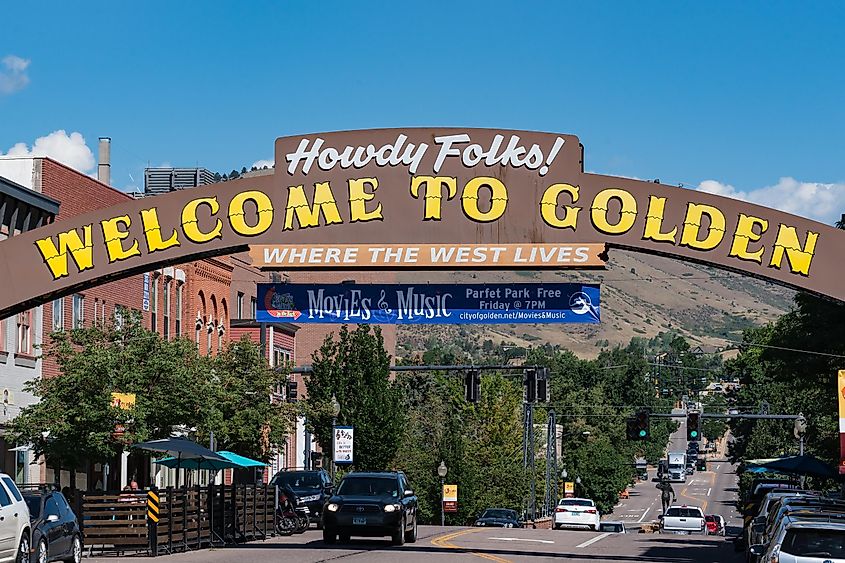
{"type": "Polygon", "coordinates": [[[350,324],[598,323],[599,286],[259,284],[259,322],[350,324]]]}

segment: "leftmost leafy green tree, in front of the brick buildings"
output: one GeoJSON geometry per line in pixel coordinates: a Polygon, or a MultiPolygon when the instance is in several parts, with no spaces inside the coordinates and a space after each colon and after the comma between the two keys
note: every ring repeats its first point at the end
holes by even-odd
{"type": "Polygon", "coordinates": [[[21,409],[9,434],[32,444],[53,467],[73,472],[89,460],[113,457],[125,444],[204,418],[207,359],[187,340],[162,340],[144,329],[138,316],[119,326],[56,332],[48,342],[43,354],[56,360],[61,375],[27,382],[25,389],[40,401],[21,409]],[[135,406],[112,407],[112,392],[135,393],[135,406]],[[118,424],[123,435],[115,435],[118,424]]]}

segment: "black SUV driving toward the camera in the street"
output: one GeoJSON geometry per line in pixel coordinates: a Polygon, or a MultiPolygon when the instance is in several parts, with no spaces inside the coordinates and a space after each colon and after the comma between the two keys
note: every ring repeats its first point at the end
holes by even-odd
{"type": "Polygon", "coordinates": [[[323,507],[323,541],[390,536],[394,545],[417,541],[417,496],[401,471],[352,472],[323,507]]]}

